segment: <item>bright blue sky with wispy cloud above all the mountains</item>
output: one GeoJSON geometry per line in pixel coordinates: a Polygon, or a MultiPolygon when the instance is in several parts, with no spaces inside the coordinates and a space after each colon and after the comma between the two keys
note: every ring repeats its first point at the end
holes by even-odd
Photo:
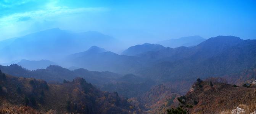
{"type": "Polygon", "coordinates": [[[124,41],[256,39],[256,0],[0,0],[0,41],[50,28],[124,41]]]}

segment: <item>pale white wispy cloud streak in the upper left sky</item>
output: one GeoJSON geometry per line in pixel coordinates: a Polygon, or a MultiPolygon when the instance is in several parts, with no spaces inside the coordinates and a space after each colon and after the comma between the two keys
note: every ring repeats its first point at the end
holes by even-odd
{"type": "Polygon", "coordinates": [[[65,6],[55,6],[54,3],[48,5],[46,9],[14,13],[0,17],[0,40],[14,36],[24,35],[24,31],[29,31],[35,23],[47,21],[58,21],[63,17],[69,17],[87,13],[101,13],[108,11],[108,8],[68,8],[65,6]],[[24,17],[29,17],[26,21],[20,21],[24,17]]]}

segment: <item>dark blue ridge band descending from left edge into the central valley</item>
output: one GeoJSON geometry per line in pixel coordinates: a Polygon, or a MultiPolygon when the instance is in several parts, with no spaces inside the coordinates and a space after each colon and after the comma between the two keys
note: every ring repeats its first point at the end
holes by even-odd
{"type": "Polygon", "coordinates": [[[69,70],[56,65],[33,71],[26,70],[17,64],[0,65],[0,69],[3,73],[12,76],[43,79],[50,83],[62,83],[81,77],[103,91],[118,92],[120,96],[127,98],[140,97],[156,84],[152,79],[138,77],[134,74],[122,75],[109,71],[89,71],[83,68],[69,70]]]}

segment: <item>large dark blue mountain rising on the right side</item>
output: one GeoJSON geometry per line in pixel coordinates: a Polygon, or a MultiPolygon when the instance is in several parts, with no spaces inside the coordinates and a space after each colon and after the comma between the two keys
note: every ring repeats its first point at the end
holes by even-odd
{"type": "Polygon", "coordinates": [[[151,52],[150,55],[160,56],[159,63],[138,72],[161,81],[191,80],[224,76],[256,64],[256,40],[241,40],[235,36],[217,36],[195,47],[178,52],[175,49],[151,52]],[[164,53],[169,54],[163,56],[164,53]]]}

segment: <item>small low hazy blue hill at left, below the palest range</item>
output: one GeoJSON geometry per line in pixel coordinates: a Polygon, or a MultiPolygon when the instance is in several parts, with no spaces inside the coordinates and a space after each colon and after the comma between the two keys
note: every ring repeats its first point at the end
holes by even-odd
{"type": "Polygon", "coordinates": [[[56,63],[50,61],[50,60],[21,60],[17,63],[18,65],[21,65],[22,67],[28,69],[28,70],[37,70],[46,68],[50,65],[56,65],[56,63]]]}

